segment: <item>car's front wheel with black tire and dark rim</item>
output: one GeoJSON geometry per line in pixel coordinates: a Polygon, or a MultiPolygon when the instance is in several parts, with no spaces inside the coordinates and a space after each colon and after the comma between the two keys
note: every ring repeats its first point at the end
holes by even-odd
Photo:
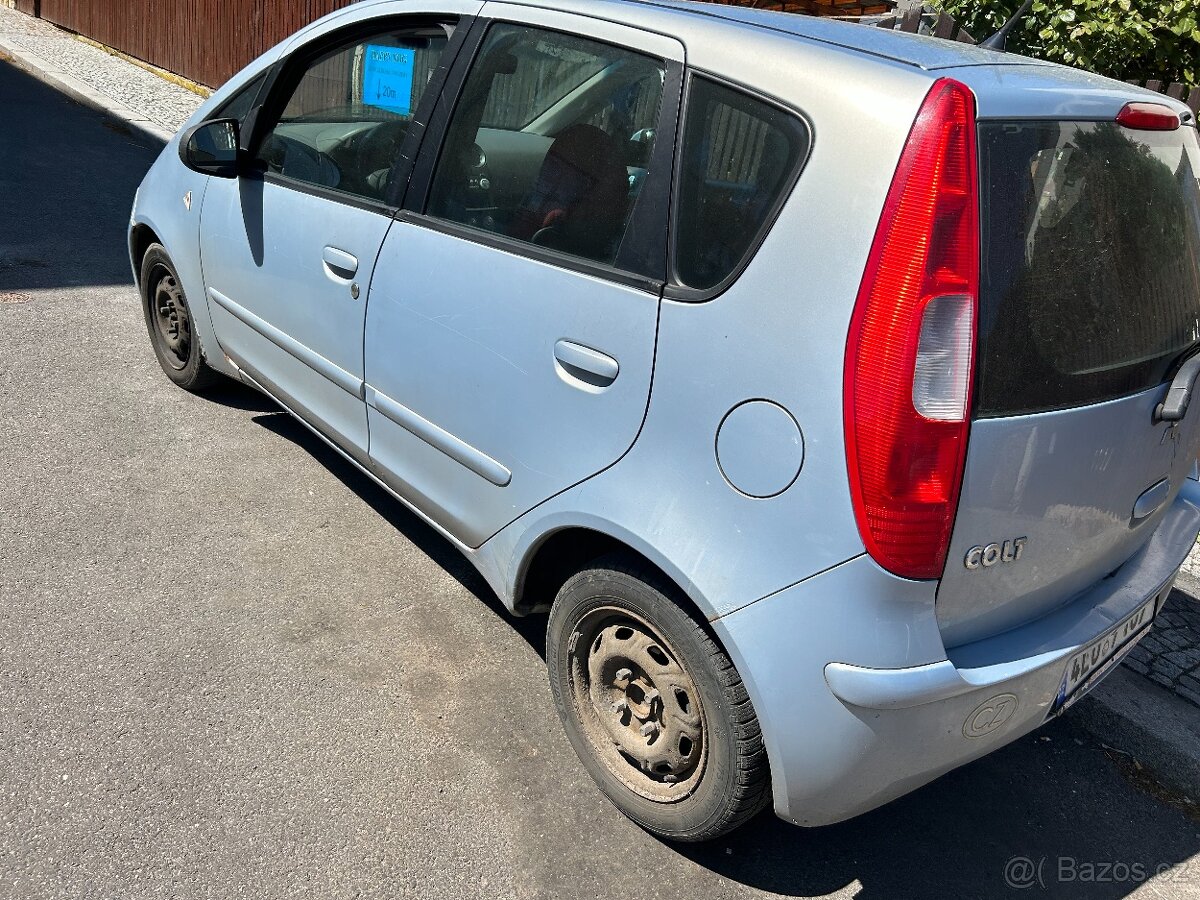
{"type": "Polygon", "coordinates": [[[150,346],[162,371],[188,391],[217,384],[221,376],[204,361],[182,282],[161,244],[151,244],[142,257],[138,284],[150,346]]]}

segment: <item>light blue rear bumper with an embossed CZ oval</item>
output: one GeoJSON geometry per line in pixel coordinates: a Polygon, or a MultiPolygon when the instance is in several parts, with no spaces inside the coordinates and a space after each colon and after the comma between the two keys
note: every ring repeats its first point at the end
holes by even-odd
{"type": "Polygon", "coordinates": [[[1067,661],[1165,598],[1198,529],[1200,485],[1189,481],[1112,577],[949,653],[936,584],[896,578],[868,557],[718,619],[763,728],[775,811],[797,824],[839,822],[1037,728],[1067,661]]]}

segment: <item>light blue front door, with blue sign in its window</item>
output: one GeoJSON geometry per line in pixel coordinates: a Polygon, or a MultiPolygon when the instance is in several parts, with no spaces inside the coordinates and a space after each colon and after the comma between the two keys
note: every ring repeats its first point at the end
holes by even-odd
{"type": "Polygon", "coordinates": [[[452,23],[367,28],[292,54],[263,107],[259,172],[212,179],[200,224],[222,349],[361,460],[367,288],[452,23]]]}

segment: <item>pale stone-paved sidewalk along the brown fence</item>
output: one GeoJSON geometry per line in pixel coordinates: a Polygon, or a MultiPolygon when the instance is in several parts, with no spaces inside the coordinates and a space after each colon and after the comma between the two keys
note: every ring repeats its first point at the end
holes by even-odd
{"type": "Polygon", "coordinates": [[[0,56],[126,125],[166,140],[203,97],[42,19],[0,6],[0,56]]]}

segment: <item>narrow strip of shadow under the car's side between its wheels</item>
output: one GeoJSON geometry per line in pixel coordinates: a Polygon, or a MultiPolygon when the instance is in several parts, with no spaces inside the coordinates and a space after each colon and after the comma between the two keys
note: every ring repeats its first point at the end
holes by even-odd
{"type": "MultiPolygon", "coordinates": [[[[262,397],[257,391],[253,394],[262,397]]],[[[454,576],[480,602],[485,604],[497,616],[506,618],[512,630],[524,638],[539,656],[544,660],[546,659],[545,617],[518,617],[510,613],[475,568],[431,524],[404,506],[404,504],[388,493],[292,415],[280,410],[272,401],[266,397],[263,397],[263,401],[268,404],[268,409],[272,412],[265,413],[264,410],[265,414],[256,415],[251,421],[280,437],[287,438],[307,451],[310,456],[329,469],[343,485],[354,491],[372,510],[386,520],[392,528],[410,540],[419,551],[454,576]]]]}

